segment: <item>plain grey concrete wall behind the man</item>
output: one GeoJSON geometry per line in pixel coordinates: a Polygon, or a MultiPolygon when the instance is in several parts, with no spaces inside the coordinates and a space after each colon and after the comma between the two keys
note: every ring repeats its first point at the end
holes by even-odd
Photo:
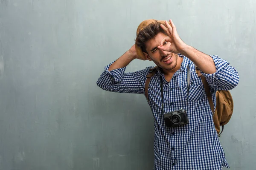
{"type": "MultiPolygon", "coordinates": [[[[172,18],[187,44],[239,71],[220,140],[232,170],[255,169],[255,8],[254,0],[0,0],[0,170],[152,169],[145,97],[96,86],[151,18],[172,18]]],[[[127,71],[150,65],[137,60],[127,71]]]]}

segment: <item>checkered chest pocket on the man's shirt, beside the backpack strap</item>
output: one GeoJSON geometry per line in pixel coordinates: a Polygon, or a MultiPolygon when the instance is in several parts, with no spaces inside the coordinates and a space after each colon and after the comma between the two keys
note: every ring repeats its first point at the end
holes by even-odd
{"type": "Polygon", "coordinates": [[[183,82],[184,99],[196,102],[204,95],[204,85],[201,81],[190,82],[189,88],[187,82],[183,82]]]}

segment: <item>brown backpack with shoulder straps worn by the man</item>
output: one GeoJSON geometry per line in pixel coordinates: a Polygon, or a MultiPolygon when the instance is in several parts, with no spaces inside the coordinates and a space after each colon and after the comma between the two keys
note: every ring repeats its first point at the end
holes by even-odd
{"type": "MultiPolygon", "coordinates": [[[[154,76],[156,69],[157,69],[157,66],[154,68],[151,68],[149,70],[148,75],[146,76],[147,79],[145,82],[145,96],[146,96],[147,100],[148,100],[148,85],[151,80],[151,77],[154,76]]],[[[223,91],[223,90],[216,91],[216,109],[214,112],[214,104],[212,101],[212,96],[211,96],[211,92],[210,92],[210,88],[207,83],[207,80],[201,74],[201,72],[199,71],[199,69],[197,67],[196,67],[196,73],[198,74],[198,77],[201,77],[201,80],[204,84],[204,90],[207,94],[209,105],[210,105],[212,113],[213,113],[212,119],[213,119],[213,122],[215,125],[215,129],[218,133],[218,136],[221,136],[221,133],[224,130],[224,125],[226,125],[229,122],[229,120],[233,114],[234,104],[233,104],[232,96],[229,91],[223,91]],[[222,129],[221,129],[221,127],[222,127],[222,129]],[[221,131],[221,133],[220,133],[220,131],[221,131]]]]}

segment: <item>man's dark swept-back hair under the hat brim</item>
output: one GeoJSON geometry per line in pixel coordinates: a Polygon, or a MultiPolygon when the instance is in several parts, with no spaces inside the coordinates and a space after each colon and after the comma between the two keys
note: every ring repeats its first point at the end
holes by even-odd
{"type": "MultiPolygon", "coordinates": [[[[138,33],[137,38],[135,40],[136,45],[140,46],[143,52],[148,54],[148,52],[146,51],[146,45],[145,45],[145,43],[148,40],[151,40],[152,38],[156,37],[157,34],[159,33],[166,34],[166,32],[163,30],[163,28],[161,28],[160,25],[161,23],[156,21],[154,23],[148,24],[148,26],[145,26],[145,28],[143,28],[138,33]]],[[[166,26],[165,24],[163,25],[166,26]]]]}

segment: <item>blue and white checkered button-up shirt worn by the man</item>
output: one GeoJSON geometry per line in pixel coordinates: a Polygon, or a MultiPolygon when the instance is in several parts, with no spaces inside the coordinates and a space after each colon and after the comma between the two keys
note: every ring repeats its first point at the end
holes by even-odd
{"type": "MultiPolygon", "coordinates": [[[[195,72],[195,64],[187,57],[170,82],[167,82],[160,69],[151,78],[148,87],[149,105],[154,116],[154,170],[221,170],[229,168],[224,150],[212,120],[212,111],[201,78],[195,72]],[[187,66],[190,69],[190,87],[187,93],[187,66]],[[186,110],[189,124],[166,128],[161,105],[160,77],[163,78],[164,112],[186,110]]],[[[216,72],[201,74],[210,85],[212,99],[216,107],[215,92],[231,90],[239,82],[235,68],[218,56],[211,56],[216,72]]],[[[112,62],[113,63],[113,62],[112,62]]],[[[111,63],[111,64],[112,64],[111,63]]],[[[99,77],[97,85],[119,93],[145,95],[145,80],[150,68],[125,73],[125,68],[108,71],[110,65],[99,77]]]]}

